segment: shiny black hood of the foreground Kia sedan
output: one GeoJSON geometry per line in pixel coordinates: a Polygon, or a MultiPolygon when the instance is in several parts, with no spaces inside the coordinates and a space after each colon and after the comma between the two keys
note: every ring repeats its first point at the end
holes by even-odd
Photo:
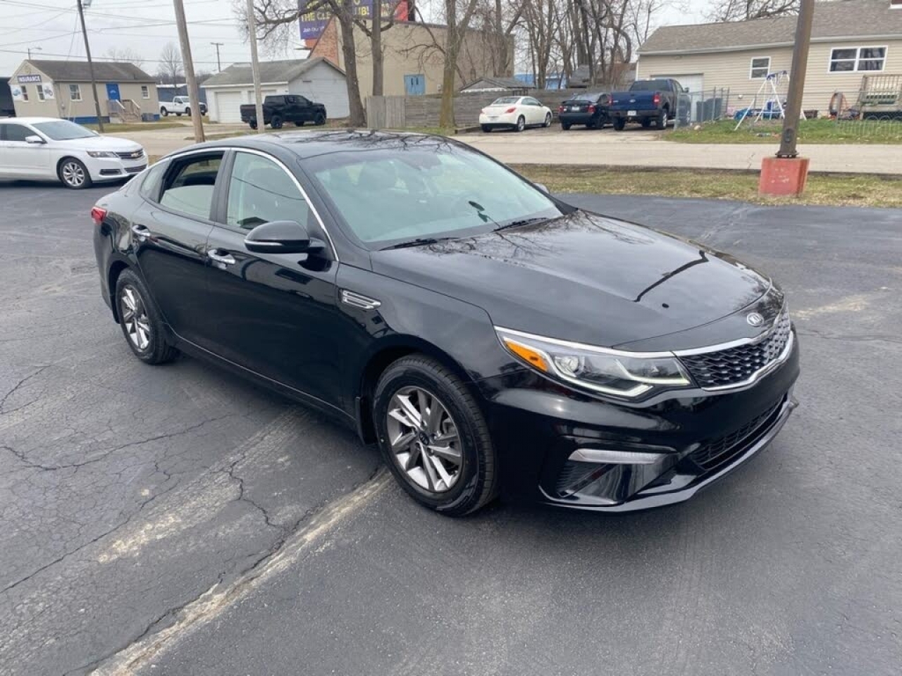
{"type": "Polygon", "coordinates": [[[377,273],[482,307],[497,326],[608,347],[713,323],[771,287],[731,256],[583,211],[374,251],[372,261],[377,273]]]}

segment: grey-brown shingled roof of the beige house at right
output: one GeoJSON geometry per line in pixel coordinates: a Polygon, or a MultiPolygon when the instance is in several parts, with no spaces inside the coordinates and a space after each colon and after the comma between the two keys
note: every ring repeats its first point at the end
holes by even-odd
{"type": "MultiPolygon", "coordinates": [[[[639,53],[649,56],[746,50],[750,47],[791,45],[795,38],[795,16],[662,26],[642,44],[639,53]]],[[[834,0],[815,3],[812,41],[838,38],[902,40],[902,8],[891,7],[889,0],[834,0]]]]}

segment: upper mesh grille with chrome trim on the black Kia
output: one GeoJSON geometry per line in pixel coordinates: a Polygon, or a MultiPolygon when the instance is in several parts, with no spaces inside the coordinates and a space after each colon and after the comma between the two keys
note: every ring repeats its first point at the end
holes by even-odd
{"type": "Polygon", "coordinates": [[[684,355],[680,360],[704,389],[728,388],[754,377],[759,371],[777,361],[786,349],[792,334],[789,313],[784,311],[768,333],[758,343],[739,347],[684,355]]]}

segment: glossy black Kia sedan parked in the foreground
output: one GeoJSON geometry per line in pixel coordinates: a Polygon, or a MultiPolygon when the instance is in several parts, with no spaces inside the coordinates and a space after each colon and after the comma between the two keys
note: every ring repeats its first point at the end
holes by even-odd
{"type": "Polygon", "coordinates": [[[134,355],[187,352],[378,443],[448,515],[679,502],[796,406],[780,289],[436,136],[286,132],[164,158],[92,210],[134,355]]]}

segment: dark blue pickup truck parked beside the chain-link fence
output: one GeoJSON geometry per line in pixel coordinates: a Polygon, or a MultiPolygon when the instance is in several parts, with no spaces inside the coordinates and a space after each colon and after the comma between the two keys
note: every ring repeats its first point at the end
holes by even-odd
{"type": "Polygon", "coordinates": [[[622,132],[628,122],[638,122],[650,127],[654,122],[658,129],[677,117],[686,120],[692,98],[686,89],[672,79],[636,80],[625,92],[613,92],[608,117],[614,129],[622,132]]]}

